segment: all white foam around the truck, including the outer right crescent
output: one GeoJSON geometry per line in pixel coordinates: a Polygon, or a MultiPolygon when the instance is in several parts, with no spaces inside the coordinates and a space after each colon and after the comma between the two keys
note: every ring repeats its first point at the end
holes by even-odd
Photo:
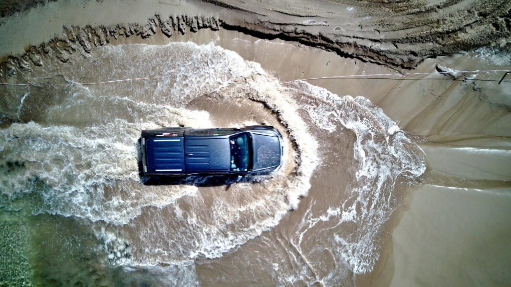
{"type": "MultiPolygon", "coordinates": [[[[325,214],[310,217],[304,226],[310,228],[317,222],[334,219],[356,223],[361,229],[353,237],[341,234],[334,238],[340,250],[334,256],[339,262],[347,261],[354,272],[366,272],[378,256],[375,238],[391,212],[382,202],[389,196],[388,184],[393,184],[398,175],[414,177],[424,172],[424,163],[414,144],[368,100],[340,98],[306,83],[282,87],[259,64],[244,61],[238,54],[213,44],[105,46],[91,51],[91,57],[98,59],[98,63],[109,63],[109,70],[100,64],[95,66],[96,61],[83,63],[89,65],[84,69],[98,73],[98,78],[111,78],[108,73],[114,72],[115,78],[153,73],[164,77],[157,83],[138,85],[69,85],[62,91],[67,93],[66,97],[45,114],[49,126],[13,124],[2,130],[2,160],[19,158],[26,165],[16,170],[9,182],[2,183],[0,192],[11,199],[36,192],[28,186],[28,180],[39,178],[45,188],[36,193],[43,205],[34,211],[96,222],[95,226],[102,227],[95,227],[97,236],[107,251],[112,250],[108,253],[112,264],[145,266],[217,258],[273,228],[309,192],[311,177],[320,161],[318,142],[308,128],[312,125],[326,133],[334,133],[339,126],[351,129],[357,136],[354,156],[359,166],[351,203],[340,202],[325,214]],[[314,101],[293,100],[293,89],[307,93],[314,101]],[[257,185],[239,183],[231,187],[251,197],[248,202],[218,197],[207,207],[195,186],[157,188],[137,183],[136,140],[140,130],[178,124],[211,127],[207,112],[186,108],[203,96],[225,101],[244,97],[272,109],[296,148],[295,158],[285,158],[285,162],[296,163],[295,170],[286,174],[281,169],[270,177],[253,177],[257,185]],[[91,106],[97,109],[88,110],[91,106]],[[312,122],[300,116],[303,110],[309,113],[312,122]],[[81,123],[84,118],[87,121],[81,123]],[[370,205],[370,201],[378,204],[370,205]],[[357,202],[362,206],[361,213],[357,212],[357,202]],[[188,208],[183,209],[179,203],[188,208]],[[144,208],[148,206],[153,208],[144,208]],[[146,225],[139,222],[143,220],[146,225]],[[103,223],[110,224],[105,227],[103,223]],[[129,254],[140,253],[138,257],[122,259],[128,253],[119,251],[119,247],[126,243],[130,246],[129,254]],[[136,253],[133,249],[144,252],[136,253]]],[[[63,73],[58,68],[47,74],[50,72],[63,73]]],[[[64,76],[66,79],[80,78],[77,70],[66,73],[69,73],[64,76]]],[[[233,123],[237,124],[243,125],[233,123]]],[[[294,282],[300,276],[290,275],[285,281],[294,282]]],[[[333,282],[338,278],[330,274],[326,280],[333,282]]]]}

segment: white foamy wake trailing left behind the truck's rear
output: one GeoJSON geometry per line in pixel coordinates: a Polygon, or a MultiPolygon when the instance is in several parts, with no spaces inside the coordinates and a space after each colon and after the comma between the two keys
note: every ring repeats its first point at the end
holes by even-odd
{"type": "Polygon", "coordinates": [[[11,199],[27,193],[38,195],[43,205],[34,209],[34,214],[47,212],[114,224],[126,224],[145,206],[165,206],[196,192],[193,186],[170,188],[174,190],[168,193],[138,189],[136,142],[140,130],[151,126],[120,119],[82,129],[12,124],[0,130],[2,163],[19,161],[24,166],[0,181],[0,192],[11,199]],[[34,180],[45,186],[34,187],[34,180]]]}

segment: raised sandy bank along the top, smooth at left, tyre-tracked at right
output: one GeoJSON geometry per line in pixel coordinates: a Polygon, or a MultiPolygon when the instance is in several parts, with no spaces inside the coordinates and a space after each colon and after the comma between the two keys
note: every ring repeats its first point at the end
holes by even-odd
{"type": "MultiPolygon", "coordinates": [[[[11,15],[27,9],[26,2],[17,5],[7,2],[0,9],[2,14],[11,15]]],[[[30,6],[37,6],[36,3],[32,2],[30,6]]],[[[149,30],[153,30],[156,22],[163,26],[189,26],[197,30],[204,25],[203,17],[215,17],[223,27],[239,32],[292,39],[347,57],[401,68],[414,67],[428,57],[483,45],[503,47],[507,43],[506,37],[511,35],[511,6],[505,0],[373,4],[350,0],[320,4],[310,0],[280,4],[255,0],[194,0],[185,3],[171,0],[96,3],[82,0],[65,4],[49,2],[37,8],[29,10],[30,20],[17,21],[10,17],[3,22],[9,31],[17,32],[17,37],[9,37],[12,32],[6,33],[9,38],[7,45],[11,49],[2,48],[0,54],[19,53],[20,47],[28,49],[28,44],[39,45],[48,41],[48,36],[58,35],[62,26],[84,28],[85,25],[135,23],[140,25],[134,27],[135,30],[151,35],[154,31],[151,33],[149,30]],[[62,13],[72,10],[77,13],[62,13]],[[94,20],[90,20],[91,14],[94,14],[94,20]],[[153,15],[160,16],[156,18],[153,15]],[[178,19],[180,16],[188,17],[181,19],[184,25],[178,19]],[[150,17],[153,17],[152,20],[146,22],[150,17]],[[36,33],[40,31],[41,23],[50,30],[36,33]]]]}

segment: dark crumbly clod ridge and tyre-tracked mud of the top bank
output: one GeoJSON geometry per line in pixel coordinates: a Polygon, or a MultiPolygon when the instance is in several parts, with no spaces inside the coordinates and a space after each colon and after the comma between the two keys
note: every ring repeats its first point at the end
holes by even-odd
{"type": "MultiPolygon", "coordinates": [[[[398,70],[413,68],[426,58],[485,45],[506,47],[511,36],[511,3],[504,0],[459,0],[436,6],[376,2],[373,10],[354,1],[323,3],[324,7],[309,10],[303,7],[310,6],[310,2],[302,0],[297,4],[273,7],[269,2],[196,1],[192,6],[198,8],[198,13],[168,17],[159,13],[145,23],[62,27],[61,36],[28,47],[24,55],[2,55],[2,73],[12,76],[16,67],[30,70],[31,65],[42,64],[41,57],[54,56],[66,62],[73,53],[89,53],[93,47],[119,37],[145,39],[159,32],[172,37],[174,33],[199,29],[228,29],[259,38],[298,41],[398,70]],[[352,14],[350,20],[344,18],[347,13],[352,14]],[[392,17],[383,17],[384,13],[392,17]]],[[[3,8],[0,11],[9,14],[3,8]]]]}

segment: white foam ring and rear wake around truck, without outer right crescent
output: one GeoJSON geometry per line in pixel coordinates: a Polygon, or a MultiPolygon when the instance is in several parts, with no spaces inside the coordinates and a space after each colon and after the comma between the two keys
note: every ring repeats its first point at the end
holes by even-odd
{"type": "MultiPolygon", "coordinates": [[[[164,75],[164,80],[156,84],[123,82],[111,87],[85,87],[70,80],[80,78],[77,70],[45,67],[50,70],[44,71],[44,79],[64,83],[48,88],[58,101],[37,115],[47,124],[13,124],[2,131],[10,139],[2,150],[5,161],[19,158],[23,165],[13,177],[18,186],[4,189],[6,205],[13,204],[9,199],[36,194],[41,203],[32,206],[34,214],[47,212],[80,217],[100,225],[104,222],[108,223],[105,230],[110,231],[123,226],[121,232],[110,232],[123,238],[120,246],[129,241],[132,252],[152,246],[149,249],[154,253],[112,263],[144,265],[175,261],[175,258],[220,257],[274,227],[287,210],[297,207],[299,197],[307,194],[317,164],[317,143],[297,114],[299,105],[283,97],[285,88],[259,64],[246,62],[236,53],[212,44],[193,43],[107,46],[93,51],[91,57],[97,61],[76,60],[84,62],[84,70],[97,74],[97,78],[111,78],[108,73],[113,71],[116,75],[121,73],[117,75],[120,77],[151,71],[164,75]],[[140,58],[141,50],[147,59],[140,58]],[[109,64],[105,68],[99,63],[109,64]],[[249,183],[238,184],[239,189],[245,189],[253,197],[251,202],[218,200],[212,209],[201,208],[203,199],[195,186],[140,186],[136,162],[140,130],[178,124],[214,126],[207,113],[185,108],[203,96],[224,101],[241,97],[263,102],[278,114],[298,148],[295,155],[286,158],[299,164],[270,177],[252,177],[252,181],[260,182],[267,189],[264,194],[259,194],[261,190],[249,183]],[[294,175],[288,176],[289,172],[294,175]],[[34,181],[44,186],[42,191],[31,187],[34,181]],[[186,199],[176,202],[180,198],[186,199]],[[181,210],[179,204],[183,201],[190,203],[191,208],[181,210]],[[174,212],[175,226],[168,226],[169,220],[163,216],[170,209],[174,212]],[[152,214],[154,230],[137,229],[137,224],[146,220],[143,210],[152,214]],[[226,214],[236,220],[226,224],[226,214]],[[180,222],[180,217],[186,222],[180,222]],[[169,238],[177,231],[190,236],[169,238]],[[158,251],[170,248],[162,245],[166,242],[177,246],[176,251],[158,251]]],[[[36,102],[26,102],[24,110],[34,109],[36,105],[36,102]]],[[[104,232],[98,231],[97,235],[105,242],[112,242],[104,232]]]]}

